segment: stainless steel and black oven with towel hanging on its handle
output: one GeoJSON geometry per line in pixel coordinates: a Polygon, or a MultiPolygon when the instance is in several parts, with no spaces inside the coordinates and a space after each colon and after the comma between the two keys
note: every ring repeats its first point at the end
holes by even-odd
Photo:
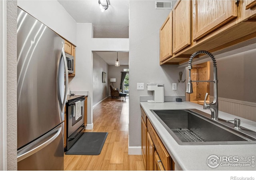
{"type": "Polygon", "coordinates": [[[68,102],[66,103],[66,148],[68,151],[71,146],[80,138],[84,132],[84,102],[87,97],[84,96],[68,96],[68,102]],[[81,102],[81,114],[76,120],[76,102],[81,102]]]}

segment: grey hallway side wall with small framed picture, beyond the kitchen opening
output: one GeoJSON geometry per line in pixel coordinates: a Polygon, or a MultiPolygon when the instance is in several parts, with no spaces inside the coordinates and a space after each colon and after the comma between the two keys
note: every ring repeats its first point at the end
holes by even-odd
{"type": "Polygon", "coordinates": [[[93,75],[92,75],[92,86],[93,86],[93,103],[92,106],[101,102],[108,97],[108,71],[109,65],[98,55],[96,52],[93,53],[93,75]],[[106,82],[102,82],[102,72],[106,72],[106,82]]]}

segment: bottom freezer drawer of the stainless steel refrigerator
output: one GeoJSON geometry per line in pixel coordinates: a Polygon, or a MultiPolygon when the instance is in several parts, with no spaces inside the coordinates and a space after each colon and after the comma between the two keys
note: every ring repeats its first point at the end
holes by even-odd
{"type": "Polygon", "coordinates": [[[18,150],[18,170],[64,170],[64,123],[18,150]]]}

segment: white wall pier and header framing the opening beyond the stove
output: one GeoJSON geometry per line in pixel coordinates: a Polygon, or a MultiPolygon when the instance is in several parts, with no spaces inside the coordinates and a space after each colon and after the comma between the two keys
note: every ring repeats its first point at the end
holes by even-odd
{"type": "Polygon", "coordinates": [[[87,129],[93,128],[93,51],[129,51],[129,39],[92,38],[92,24],[77,24],[76,76],[69,78],[69,88],[88,91],[87,129]]]}

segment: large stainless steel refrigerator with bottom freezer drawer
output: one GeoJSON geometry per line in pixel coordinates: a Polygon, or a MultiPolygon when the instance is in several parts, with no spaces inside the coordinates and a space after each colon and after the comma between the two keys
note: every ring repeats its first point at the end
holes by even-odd
{"type": "Polygon", "coordinates": [[[17,22],[18,170],[63,170],[64,40],[20,8],[17,22]]]}

